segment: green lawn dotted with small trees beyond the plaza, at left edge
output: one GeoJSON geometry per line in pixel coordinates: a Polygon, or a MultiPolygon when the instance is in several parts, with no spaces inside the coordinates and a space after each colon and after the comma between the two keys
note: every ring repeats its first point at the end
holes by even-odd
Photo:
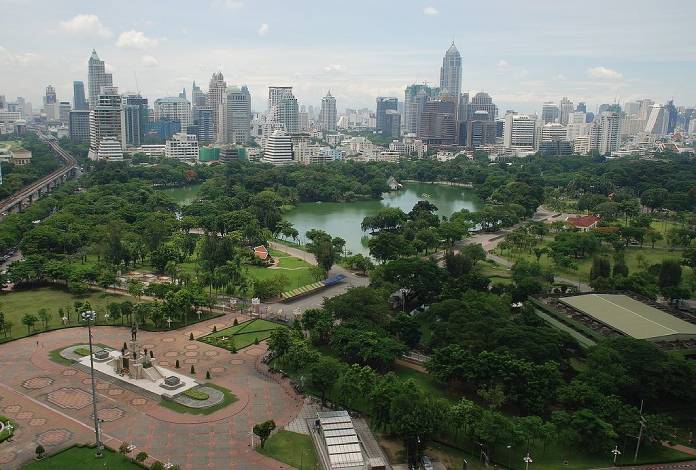
{"type": "MultiPolygon", "coordinates": [[[[0,295],[0,306],[2,312],[5,314],[5,321],[9,320],[13,324],[8,338],[16,339],[27,336],[28,333],[27,327],[22,324],[22,317],[30,313],[38,318],[37,312],[41,308],[48,310],[51,316],[48,321],[48,329],[56,329],[63,327],[63,322],[58,315],[58,309],[61,307],[65,311],[67,311],[67,307],[70,307],[70,311],[73,313],[70,316],[69,325],[75,325],[75,302],[89,302],[92,308],[97,312],[97,315],[102,316],[109,303],[124,302],[126,300],[134,301],[134,299],[129,296],[107,294],[101,291],[90,291],[83,296],[76,296],[63,289],[40,287],[38,289],[2,293],[2,295],[0,295]]],[[[34,324],[34,331],[40,332],[43,330],[43,322],[40,320],[37,321],[36,324],[34,324]]]]}

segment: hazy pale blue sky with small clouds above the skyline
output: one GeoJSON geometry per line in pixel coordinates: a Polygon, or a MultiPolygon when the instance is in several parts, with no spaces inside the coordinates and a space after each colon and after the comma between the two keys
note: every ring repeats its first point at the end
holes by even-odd
{"type": "Polygon", "coordinates": [[[696,104],[696,2],[654,0],[0,0],[0,94],[40,106],[46,85],[72,101],[92,48],[120,90],[178,94],[214,71],[247,84],[255,110],[269,85],[317,106],[374,108],[409,83],[437,83],[454,38],[464,91],[501,108],[546,100],[650,97],[696,104]],[[137,75],[137,85],[136,85],[137,75]]]}

